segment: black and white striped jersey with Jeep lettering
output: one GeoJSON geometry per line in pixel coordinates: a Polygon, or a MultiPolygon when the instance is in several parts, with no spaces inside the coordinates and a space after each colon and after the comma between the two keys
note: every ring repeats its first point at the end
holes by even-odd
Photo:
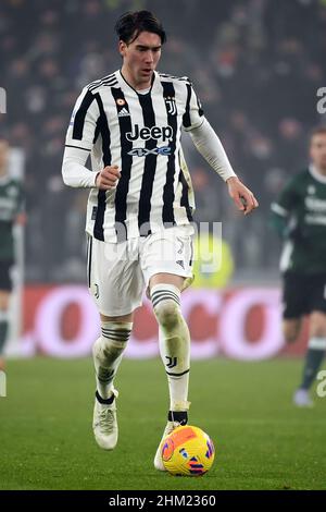
{"type": "Polygon", "coordinates": [[[116,71],[85,87],[66,151],[90,153],[95,173],[111,164],[121,170],[114,190],[91,188],[86,231],[116,242],[191,222],[193,192],[180,137],[183,127],[190,131],[203,120],[187,77],[154,72],[150,90],[140,94],[116,71]]]}

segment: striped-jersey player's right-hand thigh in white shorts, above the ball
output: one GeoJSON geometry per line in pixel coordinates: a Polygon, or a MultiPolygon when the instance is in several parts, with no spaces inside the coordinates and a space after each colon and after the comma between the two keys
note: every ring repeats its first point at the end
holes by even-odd
{"type": "Polygon", "coordinates": [[[140,249],[146,287],[164,278],[179,283],[181,290],[192,282],[192,228],[168,228],[146,239],[140,249]]]}

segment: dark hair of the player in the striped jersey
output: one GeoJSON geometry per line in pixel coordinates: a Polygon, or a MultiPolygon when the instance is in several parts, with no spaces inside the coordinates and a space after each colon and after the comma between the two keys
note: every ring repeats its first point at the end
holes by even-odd
{"type": "Polygon", "coordinates": [[[151,32],[161,37],[161,42],[166,41],[166,34],[162,23],[150,11],[126,12],[117,20],[115,32],[121,40],[133,42],[141,32],[151,32]]]}

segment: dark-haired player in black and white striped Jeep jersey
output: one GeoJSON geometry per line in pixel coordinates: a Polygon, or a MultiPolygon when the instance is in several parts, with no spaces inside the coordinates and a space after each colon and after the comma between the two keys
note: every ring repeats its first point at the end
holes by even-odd
{"type": "MultiPolygon", "coordinates": [[[[249,214],[253,194],[239,181],[205,120],[187,77],[155,71],[165,32],[148,11],[116,23],[122,68],[86,86],[66,136],[63,180],[90,188],[88,283],[101,317],[93,345],[98,444],[117,441],[113,381],[146,289],[159,322],[160,352],[170,388],[164,435],[188,420],[190,337],[180,293],[191,281],[192,187],[180,146],[181,130],[249,214]],[[91,154],[92,172],[86,167],[91,154]]],[[[158,449],[154,466],[164,471],[158,449]]]]}

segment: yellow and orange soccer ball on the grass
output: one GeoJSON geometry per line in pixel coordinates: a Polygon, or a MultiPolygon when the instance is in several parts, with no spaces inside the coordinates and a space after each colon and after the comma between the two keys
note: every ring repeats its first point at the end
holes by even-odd
{"type": "Polygon", "coordinates": [[[172,475],[201,476],[214,462],[212,439],[190,425],[175,428],[162,442],[162,461],[172,475]]]}

